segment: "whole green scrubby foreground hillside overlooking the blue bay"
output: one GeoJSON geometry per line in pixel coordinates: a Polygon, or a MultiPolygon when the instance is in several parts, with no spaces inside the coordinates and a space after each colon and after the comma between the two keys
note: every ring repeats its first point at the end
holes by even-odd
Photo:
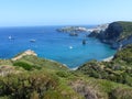
{"type": "Polygon", "coordinates": [[[114,68],[112,62],[94,61],[70,70],[34,53],[25,55],[26,52],[16,55],[21,56],[18,59],[1,59],[0,99],[132,99],[131,63],[120,54],[132,54],[131,50],[132,46],[128,46],[117,53],[112,62],[124,65],[114,68]],[[128,82],[122,82],[121,73],[129,77],[128,82]],[[111,79],[114,75],[120,81],[111,79]]]}

